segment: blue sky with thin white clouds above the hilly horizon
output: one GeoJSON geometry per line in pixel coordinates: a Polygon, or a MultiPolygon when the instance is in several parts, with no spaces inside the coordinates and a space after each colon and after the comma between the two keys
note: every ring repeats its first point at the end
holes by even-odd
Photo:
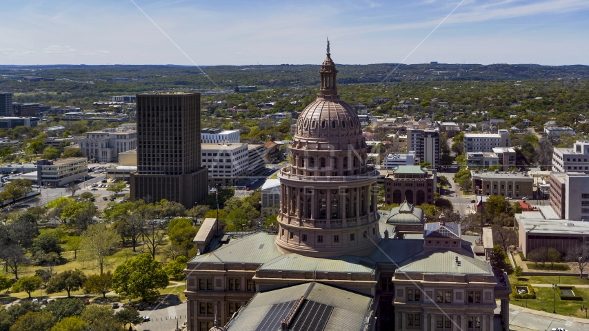
{"type": "Polygon", "coordinates": [[[588,0],[132,1],[3,1],[0,64],[589,64],[588,0]]]}

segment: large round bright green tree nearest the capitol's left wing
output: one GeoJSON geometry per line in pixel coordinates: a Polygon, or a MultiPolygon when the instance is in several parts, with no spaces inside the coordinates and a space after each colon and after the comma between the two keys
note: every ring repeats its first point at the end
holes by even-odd
{"type": "Polygon", "coordinates": [[[134,259],[117,266],[112,276],[114,292],[129,298],[143,300],[159,295],[159,288],[168,286],[168,275],[148,253],[141,253],[134,259]]]}

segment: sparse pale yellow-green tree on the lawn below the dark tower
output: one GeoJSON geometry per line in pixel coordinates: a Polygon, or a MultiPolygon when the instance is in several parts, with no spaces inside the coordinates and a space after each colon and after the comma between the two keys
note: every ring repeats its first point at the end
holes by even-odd
{"type": "Polygon", "coordinates": [[[118,237],[117,232],[104,223],[92,224],[82,234],[83,247],[86,248],[84,252],[86,260],[96,263],[100,274],[108,265],[108,255],[110,250],[117,245],[118,237]]]}

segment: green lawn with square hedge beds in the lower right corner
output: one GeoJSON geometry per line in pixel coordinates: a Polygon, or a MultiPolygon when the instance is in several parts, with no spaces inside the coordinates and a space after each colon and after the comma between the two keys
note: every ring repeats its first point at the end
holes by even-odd
{"type": "MultiPolygon", "coordinates": [[[[537,299],[528,299],[528,308],[552,312],[552,288],[534,288],[537,299]]],[[[585,312],[581,312],[581,305],[589,303],[589,289],[577,288],[577,292],[583,297],[583,301],[561,300],[558,293],[555,296],[555,310],[557,314],[572,317],[585,318],[585,312]]],[[[526,307],[526,299],[511,299],[509,303],[526,307]]]]}

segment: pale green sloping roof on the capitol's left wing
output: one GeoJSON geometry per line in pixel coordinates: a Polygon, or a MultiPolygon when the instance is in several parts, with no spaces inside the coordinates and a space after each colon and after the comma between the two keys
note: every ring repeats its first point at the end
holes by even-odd
{"type": "Polygon", "coordinates": [[[232,238],[212,252],[197,255],[189,263],[259,263],[283,256],[274,243],[276,236],[260,232],[241,239],[232,238]]]}

